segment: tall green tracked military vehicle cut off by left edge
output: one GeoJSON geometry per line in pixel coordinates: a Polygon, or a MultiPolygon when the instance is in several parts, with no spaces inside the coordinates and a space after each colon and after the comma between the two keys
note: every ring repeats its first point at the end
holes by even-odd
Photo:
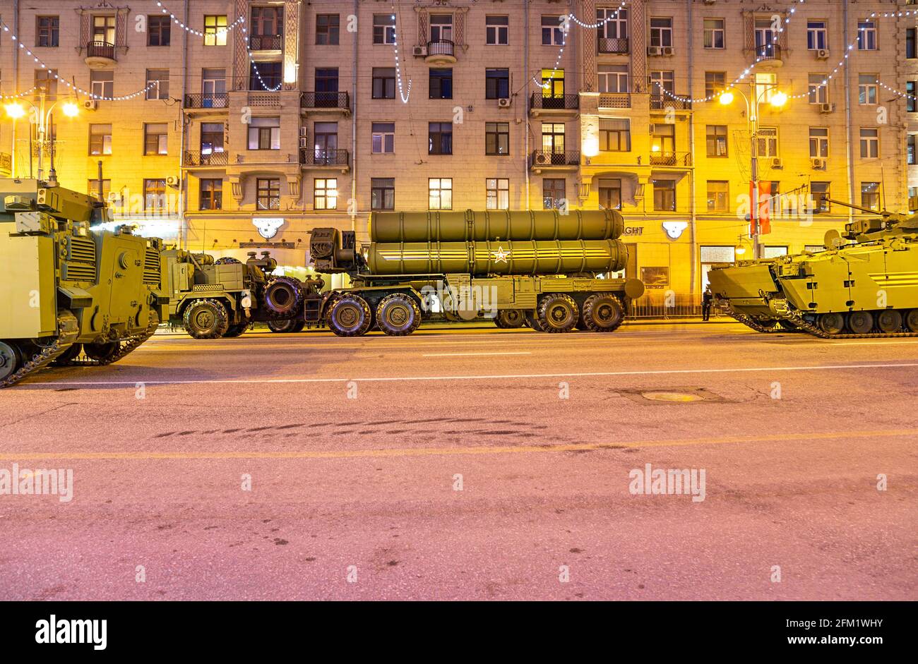
{"type": "Polygon", "coordinates": [[[111,364],[156,331],[162,241],[92,227],[109,220],[85,194],[0,180],[0,387],[50,364],[111,364]]]}

